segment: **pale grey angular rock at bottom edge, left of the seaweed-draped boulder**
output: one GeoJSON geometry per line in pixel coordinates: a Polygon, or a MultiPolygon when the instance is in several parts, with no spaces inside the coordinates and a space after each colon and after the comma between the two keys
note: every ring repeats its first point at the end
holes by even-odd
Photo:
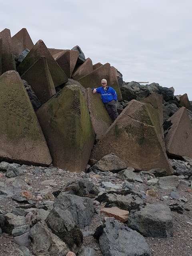
{"type": "Polygon", "coordinates": [[[66,255],[70,251],[68,246],[51,232],[44,221],[32,227],[31,237],[33,239],[32,251],[37,256],[66,255]]]}

